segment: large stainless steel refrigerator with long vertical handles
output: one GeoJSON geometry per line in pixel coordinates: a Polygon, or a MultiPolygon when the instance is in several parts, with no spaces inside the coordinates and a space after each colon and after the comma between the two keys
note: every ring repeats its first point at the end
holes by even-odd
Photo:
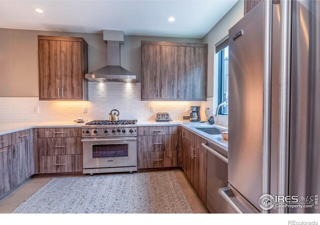
{"type": "Polygon", "coordinates": [[[312,208],[262,210],[258,203],[265,193],[265,168],[268,168],[268,194],[272,196],[320,194],[320,1],[289,2],[288,49],[281,46],[281,35],[286,32],[281,26],[282,4],[278,1],[271,6],[268,92],[264,83],[265,2],[257,4],[229,29],[228,187],[219,190],[230,206],[229,212],[320,212],[314,205],[312,208]],[[284,72],[281,50],[289,52],[290,66],[284,72]],[[285,83],[281,72],[288,73],[285,83]],[[285,85],[287,99],[283,99],[281,92],[285,85]],[[270,102],[267,124],[263,119],[266,94],[270,102]],[[285,101],[287,111],[282,109],[285,101]],[[281,129],[283,116],[288,118],[286,133],[281,129]],[[263,127],[266,125],[269,126],[266,138],[270,147],[268,167],[263,167],[263,127]],[[284,151],[283,133],[288,139],[284,151]],[[286,163],[281,164],[283,160],[286,163]]]}

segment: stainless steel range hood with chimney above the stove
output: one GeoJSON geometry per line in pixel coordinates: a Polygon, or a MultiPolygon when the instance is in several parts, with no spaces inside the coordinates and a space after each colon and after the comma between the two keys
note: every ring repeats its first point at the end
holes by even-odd
{"type": "Polygon", "coordinates": [[[85,74],[92,82],[136,82],[136,76],[120,66],[120,44],[124,34],[120,30],[103,30],[106,42],[107,65],[85,74]]]}

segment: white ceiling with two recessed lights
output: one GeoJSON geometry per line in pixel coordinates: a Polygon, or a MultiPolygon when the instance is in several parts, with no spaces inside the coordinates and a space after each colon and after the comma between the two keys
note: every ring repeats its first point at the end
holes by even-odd
{"type": "Polygon", "coordinates": [[[202,38],[237,0],[0,0],[0,27],[202,38]],[[40,7],[39,14],[34,8],[40,7]],[[167,18],[174,16],[174,22],[167,18]]]}

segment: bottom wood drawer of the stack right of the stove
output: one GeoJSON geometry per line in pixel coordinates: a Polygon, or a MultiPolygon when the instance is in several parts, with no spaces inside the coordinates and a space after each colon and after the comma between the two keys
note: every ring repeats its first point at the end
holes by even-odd
{"type": "Polygon", "coordinates": [[[138,152],[139,168],[176,167],[177,151],[138,152]]]}

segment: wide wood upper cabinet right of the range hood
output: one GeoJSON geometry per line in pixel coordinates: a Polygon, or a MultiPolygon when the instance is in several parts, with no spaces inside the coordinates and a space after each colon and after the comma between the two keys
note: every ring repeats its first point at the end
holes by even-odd
{"type": "Polygon", "coordinates": [[[206,100],[207,44],[141,41],[141,99],[206,100]]]}

